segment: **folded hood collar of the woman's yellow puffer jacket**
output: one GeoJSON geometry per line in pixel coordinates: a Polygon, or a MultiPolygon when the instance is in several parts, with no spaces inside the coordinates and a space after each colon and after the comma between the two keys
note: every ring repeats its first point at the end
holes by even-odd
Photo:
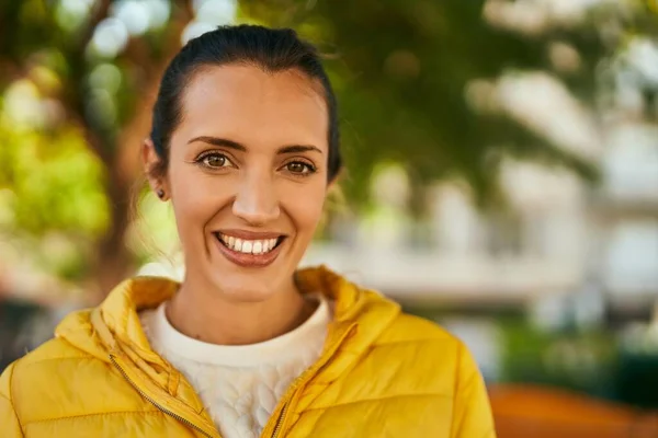
{"type": "MultiPolygon", "coordinates": [[[[314,380],[328,384],[340,377],[399,314],[399,306],[360,289],[324,266],[298,270],[303,292],[319,291],[334,302],[333,320],[314,380]]],[[[103,361],[112,361],[145,396],[166,405],[209,437],[218,437],[194,388],[150,347],[139,311],[170,299],[180,284],[159,277],[135,277],[120,284],[98,308],[72,313],[57,327],[66,339],[103,361]]]]}

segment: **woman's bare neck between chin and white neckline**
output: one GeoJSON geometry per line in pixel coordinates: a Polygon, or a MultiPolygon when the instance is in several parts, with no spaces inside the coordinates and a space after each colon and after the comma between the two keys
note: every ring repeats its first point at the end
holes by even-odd
{"type": "Polygon", "coordinates": [[[259,302],[228,299],[222,291],[194,287],[185,279],[167,307],[167,319],[179,332],[216,345],[249,345],[272,339],[299,326],[315,304],[292,279],[281,291],[259,302]]]}

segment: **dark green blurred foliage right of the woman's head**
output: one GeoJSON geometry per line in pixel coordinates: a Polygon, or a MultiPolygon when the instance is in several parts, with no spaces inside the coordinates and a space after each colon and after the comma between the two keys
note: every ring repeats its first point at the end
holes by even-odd
{"type": "Polygon", "coordinates": [[[328,65],[340,78],[337,91],[352,198],[366,196],[374,166],[387,160],[405,163],[418,184],[465,177],[485,200],[495,195],[501,153],[566,165],[588,180],[597,174],[588,160],[509,117],[480,114],[465,99],[472,81],[510,69],[558,73],[546,54],[552,42],[564,41],[582,62],[563,79],[586,104],[592,103],[593,70],[608,53],[597,23],[527,36],[486,23],[483,1],[241,4],[247,16],[294,25],[329,54],[328,65]]]}

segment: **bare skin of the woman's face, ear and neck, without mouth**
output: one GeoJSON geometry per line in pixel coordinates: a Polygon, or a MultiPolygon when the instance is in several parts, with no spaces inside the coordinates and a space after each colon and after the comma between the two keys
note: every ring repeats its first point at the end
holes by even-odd
{"type": "Polygon", "coordinates": [[[159,160],[152,142],[143,148],[151,187],[173,206],[184,252],[185,278],[168,319],[188,336],[222,345],[290,332],[314,311],[293,274],[329,189],[321,88],[296,70],[207,67],[193,76],[182,105],[166,175],[150,173],[159,160]],[[273,263],[245,267],[219,251],[214,232],[223,230],[286,238],[273,263]]]}

